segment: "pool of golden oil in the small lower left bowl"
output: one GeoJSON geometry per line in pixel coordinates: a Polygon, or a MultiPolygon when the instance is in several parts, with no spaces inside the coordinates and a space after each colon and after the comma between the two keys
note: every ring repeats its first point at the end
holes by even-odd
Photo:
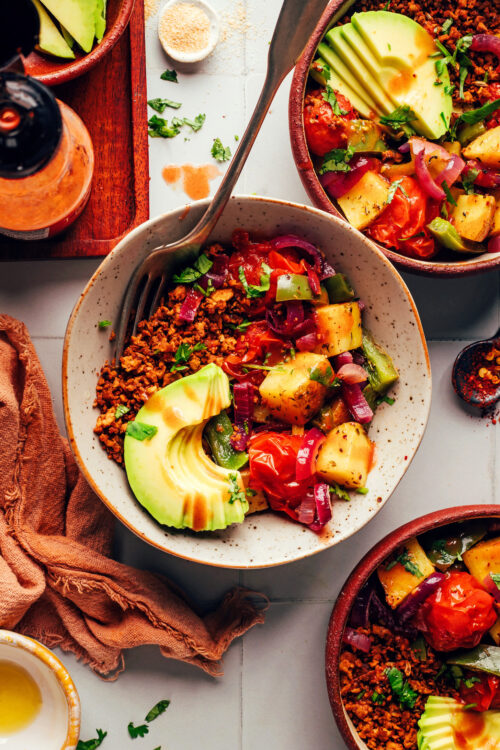
{"type": "Polygon", "coordinates": [[[12,661],[0,660],[0,737],[31,724],[41,705],[40,688],[28,672],[12,661]]]}

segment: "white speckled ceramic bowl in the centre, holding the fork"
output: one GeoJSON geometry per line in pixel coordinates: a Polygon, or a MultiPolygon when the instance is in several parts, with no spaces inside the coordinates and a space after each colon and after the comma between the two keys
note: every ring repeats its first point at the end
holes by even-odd
{"type": "MultiPolygon", "coordinates": [[[[298,560],[338,544],[362,528],[389,499],[424,434],[431,403],[429,357],[410,292],[375,246],[340,219],[315,208],[250,196],[233,197],[213,239],[228,242],[236,228],[272,237],[293,232],[317,244],[334,267],[348,274],[366,304],[364,320],[392,355],[401,378],[393,406],[382,404],[370,428],[377,463],[367,495],[338,502],[321,535],[267,512],[224,531],[191,533],[160,526],[135,500],[125,472],[110,461],[93,433],[98,373],[112,354],[109,329],[117,320],[128,279],[137,263],[165,241],[179,239],[208,205],[199,201],[134,229],[98,268],[71,315],[63,356],[63,397],[71,446],[87,480],[132,531],[165,552],[208,565],[259,568],[298,560]],[[403,427],[403,429],[402,429],[403,427]]],[[[173,265],[182,264],[173,258],[173,265]]],[[[180,262],[179,262],[180,261],[180,262]]],[[[185,259],[184,259],[185,262],[185,259]]]]}

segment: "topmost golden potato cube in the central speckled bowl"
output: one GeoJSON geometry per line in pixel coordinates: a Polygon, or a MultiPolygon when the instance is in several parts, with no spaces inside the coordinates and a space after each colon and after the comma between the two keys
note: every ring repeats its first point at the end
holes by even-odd
{"type": "Polygon", "coordinates": [[[361,310],[357,302],[342,302],[318,308],[316,326],[319,343],[314,351],[326,357],[357,349],[363,343],[361,310]]]}

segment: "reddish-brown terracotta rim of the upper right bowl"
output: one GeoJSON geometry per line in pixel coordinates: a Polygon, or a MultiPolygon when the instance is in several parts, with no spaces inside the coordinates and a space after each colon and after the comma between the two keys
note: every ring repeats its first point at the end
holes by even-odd
{"type": "MultiPolygon", "coordinates": [[[[302,57],[295,67],[289,100],[289,125],[292,152],[304,188],[315,206],[321,208],[323,211],[333,214],[334,216],[338,216],[343,221],[346,221],[344,215],[340,213],[335,203],[328,197],[314,170],[304,132],[303,105],[305,93],[308,88],[309,68],[314,60],[316,48],[326,31],[337,23],[339,18],[347,12],[349,5],[352,5],[352,0],[351,3],[345,3],[345,1],[343,2],[342,0],[332,0],[332,2],[328,4],[304,50],[304,53],[302,54],[302,57]],[[347,5],[347,8],[343,11],[339,10],[343,5],[347,5]]],[[[474,255],[470,258],[466,256],[465,260],[458,260],[460,256],[456,253],[452,254],[444,249],[440,249],[436,259],[418,260],[416,258],[406,258],[399,253],[388,250],[378,243],[374,242],[373,244],[376,244],[379,250],[381,250],[384,255],[401,270],[410,271],[424,276],[466,276],[489,271],[500,266],[500,252],[483,253],[482,255],[474,255]]]]}

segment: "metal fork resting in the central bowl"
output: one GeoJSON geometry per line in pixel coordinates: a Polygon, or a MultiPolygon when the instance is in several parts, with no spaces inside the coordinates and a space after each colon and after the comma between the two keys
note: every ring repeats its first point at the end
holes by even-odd
{"type": "MultiPolygon", "coordinates": [[[[333,0],[333,2],[338,3],[338,0],[333,0]]],[[[160,304],[167,283],[166,257],[181,249],[184,252],[186,250],[191,253],[199,252],[217,224],[279,85],[294,67],[322,11],[328,4],[328,0],[284,0],[269,47],[267,74],[259,100],[212,202],[194,229],[182,239],[152,250],[132,274],[116,330],[115,361],[117,364],[123,354],[133,311],[135,310],[135,317],[131,330],[135,333],[139,321],[149,318],[160,304]]]]}

